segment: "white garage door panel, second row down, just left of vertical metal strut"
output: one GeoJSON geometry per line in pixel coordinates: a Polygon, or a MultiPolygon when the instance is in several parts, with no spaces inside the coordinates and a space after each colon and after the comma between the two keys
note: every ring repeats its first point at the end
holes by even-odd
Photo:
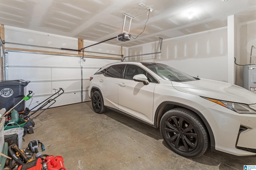
{"type": "Polygon", "coordinates": [[[52,80],[81,79],[80,68],[52,68],[52,80]]]}

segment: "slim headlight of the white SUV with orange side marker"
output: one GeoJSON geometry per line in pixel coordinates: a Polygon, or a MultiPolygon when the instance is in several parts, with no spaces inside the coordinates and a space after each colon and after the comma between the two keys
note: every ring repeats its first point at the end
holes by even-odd
{"type": "Polygon", "coordinates": [[[205,99],[210,100],[210,101],[212,101],[216,104],[219,104],[221,106],[227,107],[228,109],[236,111],[237,113],[256,114],[256,111],[254,109],[250,108],[250,106],[248,106],[247,104],[226,102],[226,101],[210,99],[210,98],[205,98],[205,99]]]}

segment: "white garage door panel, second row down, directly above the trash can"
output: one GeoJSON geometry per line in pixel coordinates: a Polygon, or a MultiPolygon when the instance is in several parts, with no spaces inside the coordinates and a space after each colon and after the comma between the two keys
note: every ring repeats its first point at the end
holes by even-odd
{"type": "Polygon", "coordinates": [[[8,68],[8,80],[51,80],[50,68],[8,68]]]}

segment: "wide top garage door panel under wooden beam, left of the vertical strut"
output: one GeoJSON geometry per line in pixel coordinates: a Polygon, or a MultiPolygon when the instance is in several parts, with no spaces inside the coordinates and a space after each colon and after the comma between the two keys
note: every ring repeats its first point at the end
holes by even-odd
{"type": "Polygon", "coordinates": [[[8,64],[19,66],[68,66],[76,67],[81,64],[80,57],[56,56],[34,53],[8,52],[8,64]]]}

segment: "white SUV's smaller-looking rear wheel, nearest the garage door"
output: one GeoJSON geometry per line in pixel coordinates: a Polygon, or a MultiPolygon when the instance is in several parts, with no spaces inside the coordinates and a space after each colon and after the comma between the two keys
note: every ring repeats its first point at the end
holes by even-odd
{"type": "Polygon", "coordinates": [[[99,114],[104,113],[106,111],[103,98],[99,91],[95,91],[92,94],[92,108],[96,113],[99,114]]]}

